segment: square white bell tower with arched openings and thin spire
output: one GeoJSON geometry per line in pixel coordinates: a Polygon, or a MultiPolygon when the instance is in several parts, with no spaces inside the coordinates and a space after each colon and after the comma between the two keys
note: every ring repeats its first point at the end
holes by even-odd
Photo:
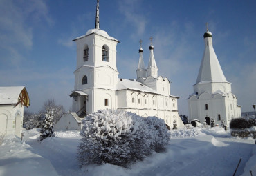
{"type": "Polygon", "coordinates": [[[103,108],[113,108],[111,99],[114,99],[112,94],[118,81],[116,45],[119,41],[110,37],[104,30],[100,30],[99,10],[97,0],[95,28],[73,39],[77,44],[77,66],[71,97],[74,97],[73,111],[78,115],[83,111],[88,114],[103,108]],[[102,92],[110,97],[104,99],[106,96],[102,95],[102,92]],[[105,105],[109,107],[104,107],[105,105]]]}

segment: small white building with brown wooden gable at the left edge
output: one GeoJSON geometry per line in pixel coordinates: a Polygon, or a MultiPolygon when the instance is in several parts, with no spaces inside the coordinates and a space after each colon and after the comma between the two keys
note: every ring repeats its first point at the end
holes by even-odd
{"type": "Polygon", "coordinates": [[[0,87],[0,135],[21,137],[24,106],[29,106],[24,86],[0,87]]]}

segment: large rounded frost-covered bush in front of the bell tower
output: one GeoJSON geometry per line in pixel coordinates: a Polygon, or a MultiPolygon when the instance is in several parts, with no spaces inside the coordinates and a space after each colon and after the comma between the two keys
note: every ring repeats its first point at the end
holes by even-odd
{"type": "Polygon", "coordinates": [[[77,158],[87,164],[129,164],[144,159],[153,151],[167,147],[170,135],[165,122],[124,111],[99,110],[82,121],[82,136],[77,158]]]}

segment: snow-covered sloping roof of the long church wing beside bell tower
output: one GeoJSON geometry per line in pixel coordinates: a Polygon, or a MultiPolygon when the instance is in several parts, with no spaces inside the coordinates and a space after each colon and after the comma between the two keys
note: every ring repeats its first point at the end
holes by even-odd
{"type": "Polygon", "coordinates": [[[116,90],[137,90],[140,92],[149,92],[154,94],[159,94],[156,90],[149,88],[145,84],[142,84],[137,81],[132,81],[129,79],[120,79],[118,78],[118,84],[116,86],[116,90]]]}

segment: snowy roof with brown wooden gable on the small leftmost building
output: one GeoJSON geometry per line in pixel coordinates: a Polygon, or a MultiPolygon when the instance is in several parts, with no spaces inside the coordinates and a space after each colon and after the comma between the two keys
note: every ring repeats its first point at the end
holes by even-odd
{"type": "Polygon", "coordinates": [[[18,104],[23,102],[24,106],[29,106],[28,92],[24,86],[0,87],[0,104],[18,104]],[[19,99],[19,95],[21,95],[19,99]]]}

